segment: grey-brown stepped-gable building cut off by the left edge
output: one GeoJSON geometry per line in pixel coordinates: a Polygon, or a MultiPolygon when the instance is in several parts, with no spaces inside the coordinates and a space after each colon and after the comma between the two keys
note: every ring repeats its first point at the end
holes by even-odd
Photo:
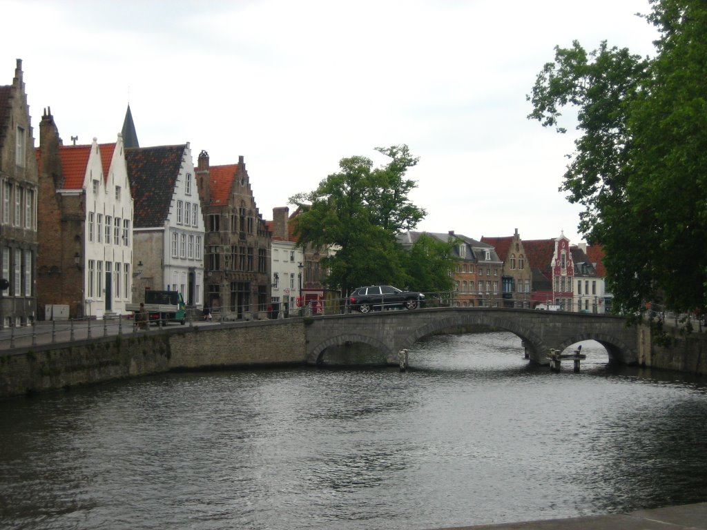
{"type": "Polygon", "coordinates": [[[11,85],[0,86],[0,328],[37,318],[35,140],[17,59],[11,85]]]}

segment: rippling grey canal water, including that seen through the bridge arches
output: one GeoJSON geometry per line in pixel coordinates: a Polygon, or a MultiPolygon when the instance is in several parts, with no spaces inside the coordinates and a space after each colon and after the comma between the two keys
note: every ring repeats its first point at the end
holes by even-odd
{"type": "Polygon", "coordinates": [[[707,500],[707,386],[529,365],[508,333],[411,368],[169,374],[0,401],[3,529],[431,529],[707,500]]]}

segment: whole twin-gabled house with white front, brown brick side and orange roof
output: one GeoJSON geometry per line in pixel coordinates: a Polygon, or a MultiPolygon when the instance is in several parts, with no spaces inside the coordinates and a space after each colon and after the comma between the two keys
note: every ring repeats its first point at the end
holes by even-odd
{"type": "Polygon", "coordinates": [[[51,110],[42,115],[37,302],[47,319],[124,314],[132,301],[124,151],[121,134],[115,143],[64,146],[51,110]]]}

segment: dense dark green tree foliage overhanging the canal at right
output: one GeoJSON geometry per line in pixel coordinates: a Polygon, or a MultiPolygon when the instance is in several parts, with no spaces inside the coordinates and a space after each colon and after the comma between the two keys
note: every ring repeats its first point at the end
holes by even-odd
{"type": "Polygon", "coordinates": [[[528,100],[530,119],[559,126],[577,110],[579,138],[561,191],[585,206],[580,231],[606,253],[614,308],[646,301],[706,310],[707,4],[652,0],[654,58],[628,49],[555,49],[528,100]]]}

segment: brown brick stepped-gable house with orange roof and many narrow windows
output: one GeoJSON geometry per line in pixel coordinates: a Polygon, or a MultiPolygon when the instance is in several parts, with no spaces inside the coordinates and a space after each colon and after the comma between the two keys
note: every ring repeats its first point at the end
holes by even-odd
{"type": "Polygon", "coordinates": [[[209,165],[201,151],[197,185],[206,223],[206,302],[229,318],[262,313],[271,304],[271,233],[258,212],[243,156],[209,165]]]}

